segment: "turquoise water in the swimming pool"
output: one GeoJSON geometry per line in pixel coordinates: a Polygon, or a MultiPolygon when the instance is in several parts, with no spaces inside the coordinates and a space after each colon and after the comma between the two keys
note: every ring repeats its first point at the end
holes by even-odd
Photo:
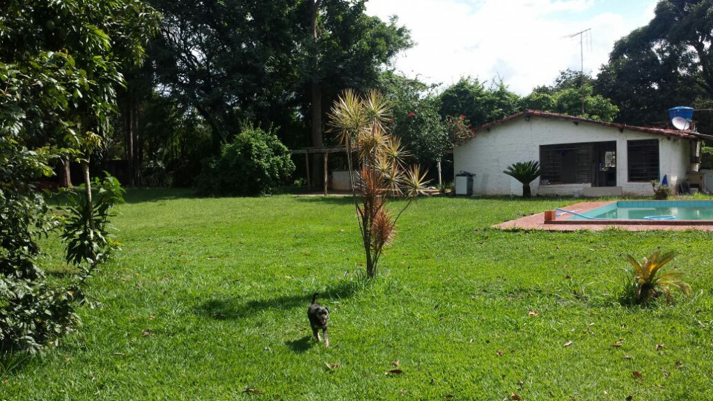
{"type": "MultiPolygon", "coordinates": [[[[575,210],[573,210],[575,211],[575,210]]],[[[649,220],[673,216],[672,220],[713,220],[713,200],[620,200],[582,213],[590,218],[649,220]]],[[[569,220],[587,220],[573,216],[569,220]]]]}

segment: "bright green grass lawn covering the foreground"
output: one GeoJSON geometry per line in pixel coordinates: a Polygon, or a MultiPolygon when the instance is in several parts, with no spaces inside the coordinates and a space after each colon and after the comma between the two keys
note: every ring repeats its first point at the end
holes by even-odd
{"type": "Polygon", "coordinates": [[[348,198],[130,191],[98,308],[2,375],[0,399],[713,399],[711,234],[490,228],[566,203],[421,199],[369,281],[348,198]],[[659,247],[692,297],[623,308],[623,255],[659,247]],[[314,291],[329,349],[309,337],[314,291]]]}

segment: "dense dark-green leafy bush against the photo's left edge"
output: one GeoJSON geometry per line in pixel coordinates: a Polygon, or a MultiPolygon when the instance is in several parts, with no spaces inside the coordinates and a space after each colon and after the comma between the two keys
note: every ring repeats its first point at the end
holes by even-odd
{"type": "Polygon", "coordinates": [[[48,175],[48,155],[0,136],[0,355],[39,350],[71,329],[73,294],[48,284],[36,265],[37,239],[55,223],[32,178],[48,175]]]}

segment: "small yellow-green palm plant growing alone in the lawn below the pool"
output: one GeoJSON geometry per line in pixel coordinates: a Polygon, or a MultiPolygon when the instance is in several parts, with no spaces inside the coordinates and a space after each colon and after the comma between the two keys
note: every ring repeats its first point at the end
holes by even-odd
{"type": "Polygon", "coordinates": [[[665,295],[667,300],[672,301],[671,288],[678,288],[685,295],[689,295],[691,286],[676,280],[680,273],[662,273],[664,265],[673,260],[674,256],[673,251],[662,254],[657,250],[639,263],[632,255],[627,255],[626,258],[634,269],[625,283],[620,302],[624,305],[646,305],[660,295],[665,295]]]}

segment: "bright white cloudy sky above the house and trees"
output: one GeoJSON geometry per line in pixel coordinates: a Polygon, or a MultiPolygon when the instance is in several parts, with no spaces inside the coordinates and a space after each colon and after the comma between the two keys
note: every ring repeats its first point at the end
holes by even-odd
{"type": "Polygon", "coordinates": [[[560,71],[596,75],[614,42],[646,25],[657,0],[369,0],[366,14],[398,16],[416,45],[396,57],[396,70],[427,83],[461,76],[502,78],[524,96],[560,71]],[[580,31],[580,36],[568,37],[580,31]]]}

